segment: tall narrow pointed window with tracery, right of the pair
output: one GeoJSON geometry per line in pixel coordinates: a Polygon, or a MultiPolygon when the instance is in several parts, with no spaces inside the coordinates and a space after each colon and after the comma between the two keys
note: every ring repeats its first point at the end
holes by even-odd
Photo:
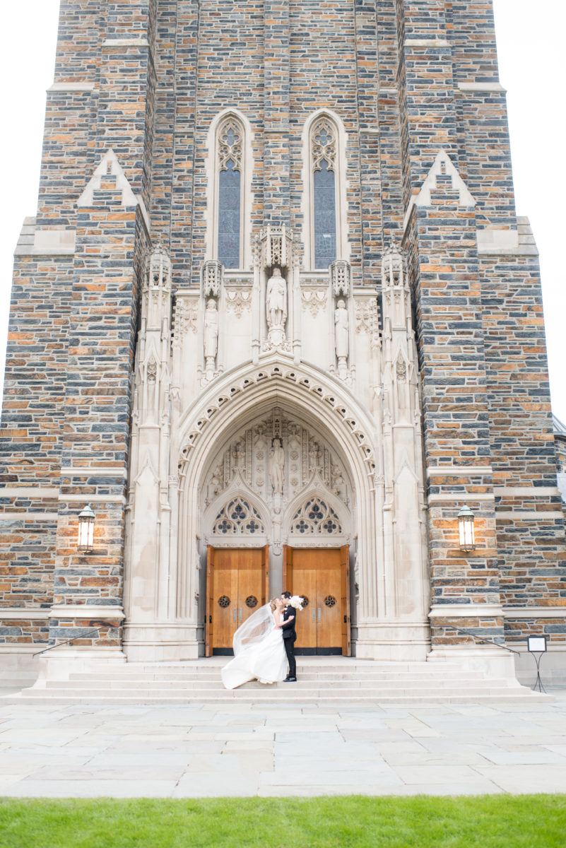
{"type": "Polygon", "coordinates": [[[328,268],[336,259],[336,147],[336,126],[323,115],[310,131],[315,268],[328,268]]]}

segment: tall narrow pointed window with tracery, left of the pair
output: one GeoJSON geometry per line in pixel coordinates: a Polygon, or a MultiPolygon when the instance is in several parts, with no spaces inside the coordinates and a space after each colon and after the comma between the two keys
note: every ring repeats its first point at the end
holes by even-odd
{"type": "Polygon", "coordinates": [[[242,162],[244,129],[234,115],[217,133],[218,227],[217,258],[225,268],[241,268],[242,162]]]}

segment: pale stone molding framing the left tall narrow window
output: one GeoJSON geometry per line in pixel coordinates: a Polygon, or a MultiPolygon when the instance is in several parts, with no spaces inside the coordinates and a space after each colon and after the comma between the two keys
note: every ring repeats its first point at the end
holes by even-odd
{"type": "Polygon", "coordinates": [[[240,109],[223,109],[214,117],[208,128],[207,135],[207,157],[205,169],[207,174],[207,208],[204,215],[206,226],[206,259],[217,259],[218,248],[218,189],[219,189],[219,167],[217,161],[217,142],[219,127],[227,118],[233,116],[243,128],[241,157],[241,269],[249,270],[252,267],[252,125],[246,115],[240,109]]]}

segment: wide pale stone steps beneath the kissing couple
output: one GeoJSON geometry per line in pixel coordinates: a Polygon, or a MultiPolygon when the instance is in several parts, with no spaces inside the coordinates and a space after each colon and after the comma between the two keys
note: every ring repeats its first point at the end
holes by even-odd
{"type": "Polygon", "coordinates": [[[253,681],[224,689],[220,668],[226,657],[175,663],[94,665],[65,680],[38,680],[0,703],[51,704],[380,704],[468,703],[553,700],[514,678],[449,662],[384,662],[347,657],[299,657],[297,683],[265,686],[253,681]]]}

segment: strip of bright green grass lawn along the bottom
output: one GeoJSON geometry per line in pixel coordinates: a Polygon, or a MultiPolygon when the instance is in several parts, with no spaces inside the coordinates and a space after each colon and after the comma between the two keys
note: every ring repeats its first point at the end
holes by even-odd
{"type": "Polygon", "coordinates": [[[2,848],[547,848],[566,795],[0,800],[2,848]]]}

